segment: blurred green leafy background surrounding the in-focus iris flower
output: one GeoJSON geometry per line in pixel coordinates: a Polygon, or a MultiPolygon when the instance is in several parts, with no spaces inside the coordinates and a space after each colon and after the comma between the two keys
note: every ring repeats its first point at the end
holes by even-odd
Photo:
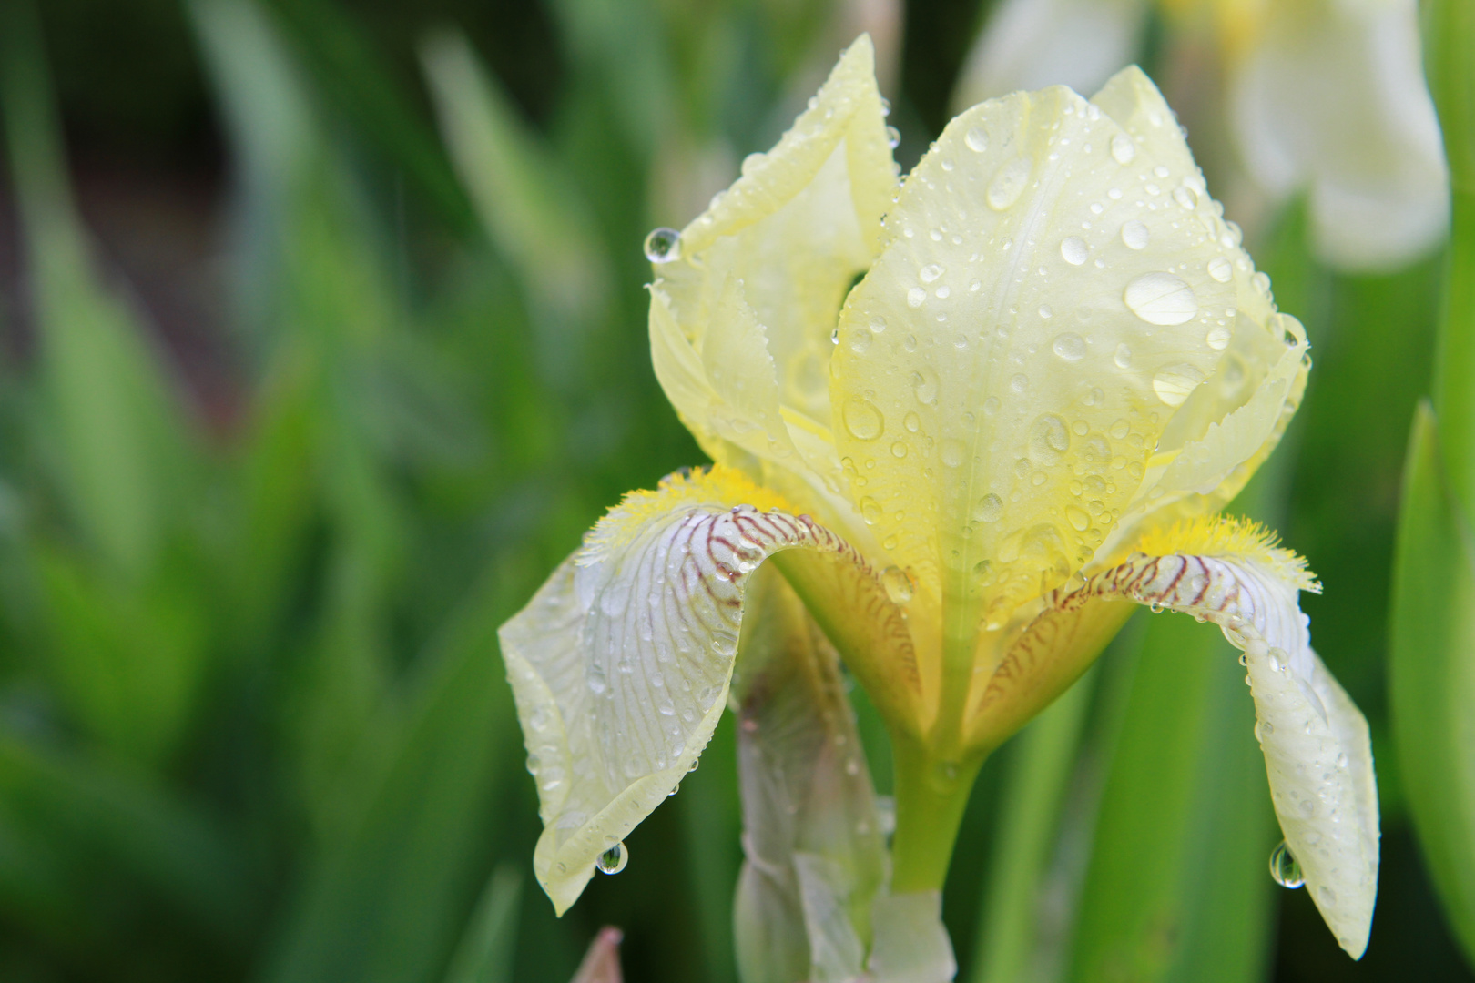
{"type": "Polygon", "coordinates": [[[1233,651],[1140,615],[1074,716],[985,766],[945,895],[959,979],[1475,979],[1385,710],[1444,199],[1423,111],[1394,100],[1379,130],[1360,108],[1384,81],[1416,100],[1417,50],[1389,68],[1313,0],[1279,4],[1311,12],[1294,24],[1235,6],[4,4],[0,979],[562,983],[617,924],[630,980],[735,980],[730,721],[556,920],[496,628],[621,492],[702,460],[650,370],[642,240],[767,149],[860,31],[904,168],[984,96],[1090,91],[1130,60],[1164,87],[1314,345],[1245,507],[1326,585],[1304,607],[1382,799],[1354,964],[1268,875],[1233,651]],[[1338,31],[1330,62],[1297,60],[1338,31]],[[1313,115],[1354,133],[1264,108],[1307,65],[1313,115]]]}

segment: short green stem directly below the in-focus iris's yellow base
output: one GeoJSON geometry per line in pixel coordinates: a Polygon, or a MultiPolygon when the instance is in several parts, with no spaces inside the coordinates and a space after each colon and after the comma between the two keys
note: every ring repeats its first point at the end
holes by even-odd
{"type": "Polygon", "coordinates": [[[897,833],[891,840],[891,892],[943,890],[957,828],[984,755],[947,759],[914,738],[891,738],[897,833]]]}

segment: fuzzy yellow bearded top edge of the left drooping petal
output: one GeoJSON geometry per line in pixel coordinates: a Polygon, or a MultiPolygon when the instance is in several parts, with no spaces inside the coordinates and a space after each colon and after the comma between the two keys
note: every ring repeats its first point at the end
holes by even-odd
{"type": "Polygon", "coordinates": [[[798,511],[776,492],[755,485],[736,467],[712,464],[711,467],[681,469],[662,477],[655,491],[625,492],[620,504],[612,506],[584,535],[584,548],[580,550],[575,564],[597,563],[611,550],[627,542],[643,523],[681,506],[715,506],[718,508],[752,506],[758,511],[774,508],[788,513],[798,511]]]}

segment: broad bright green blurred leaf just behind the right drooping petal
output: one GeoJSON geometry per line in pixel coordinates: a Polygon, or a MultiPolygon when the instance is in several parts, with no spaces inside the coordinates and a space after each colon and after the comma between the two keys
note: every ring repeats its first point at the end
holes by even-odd
{"type": "Polygon", "coordinates": [[[1108,771],[1069,979],[1238,983],[1266,970],[1274,844],[1235,650],[1153,618],[1108,771]]]}

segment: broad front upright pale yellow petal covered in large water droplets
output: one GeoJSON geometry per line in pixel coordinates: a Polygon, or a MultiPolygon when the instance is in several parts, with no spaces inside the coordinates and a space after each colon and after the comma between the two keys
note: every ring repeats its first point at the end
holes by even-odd
{"type": "Polygon", "coordinates": [[[1134,68],[1093,102],[1056,87],[965,112],[886,228],[841,314],[842,463],[894,562],[999,628],[1096,554],[1198,417],[1254,267],[1134,68]]]}

